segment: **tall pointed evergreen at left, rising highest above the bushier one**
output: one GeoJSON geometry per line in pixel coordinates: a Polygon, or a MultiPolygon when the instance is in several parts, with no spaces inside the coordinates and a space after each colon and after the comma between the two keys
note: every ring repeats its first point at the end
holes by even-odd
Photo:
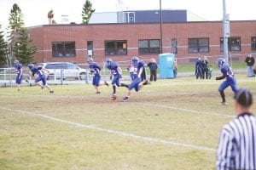
{"type": "Polygon", "coordinates": [[[17,3],[13,5],[13,8],[9,14],[9,65],[14,60],[13,49],[15,46],[15,39],[18,37],[18,30],[24,26],[23,14],[17,3]]]}

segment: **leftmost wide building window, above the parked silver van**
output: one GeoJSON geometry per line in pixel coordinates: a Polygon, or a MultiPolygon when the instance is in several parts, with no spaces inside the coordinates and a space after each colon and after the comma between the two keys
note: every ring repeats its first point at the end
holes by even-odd
{"type": "Polygon", "coordinates": [[[54,57],[76,56],[75,42],[52,42],[52,55],[54,57]]]}

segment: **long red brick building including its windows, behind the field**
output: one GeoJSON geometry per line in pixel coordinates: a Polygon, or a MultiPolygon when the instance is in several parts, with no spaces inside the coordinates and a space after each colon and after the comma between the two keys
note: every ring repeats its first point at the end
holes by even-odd
{"type": "MultiPolygon", "coordinates": [[[[35,59],[84,63],[88,55],[98,62],[131,56],[150,59],[160,53],[160,24],[44,25],[30,27],[35,59]]],[[[164,23],[164,53],[175,53],[180,62],[194,61],[198,54],[221,56],[221,21],[164,23]]],[[[236,60],[256,52],[256,20],[230,21],[229,48],[236,60]]]]}

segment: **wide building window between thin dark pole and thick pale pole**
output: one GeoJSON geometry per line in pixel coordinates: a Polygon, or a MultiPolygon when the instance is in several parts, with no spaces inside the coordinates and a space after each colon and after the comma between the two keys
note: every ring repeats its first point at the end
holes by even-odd
{"type": "Polygon", "coordinates": [[[209,38],[189,38],[189,53],[207,53],[209,52],[209,38]]]}

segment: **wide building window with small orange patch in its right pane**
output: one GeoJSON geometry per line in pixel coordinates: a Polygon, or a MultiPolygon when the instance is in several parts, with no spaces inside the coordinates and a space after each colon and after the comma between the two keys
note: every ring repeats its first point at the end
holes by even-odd
{"type": "Polygon", "coordinates": [[[105,55],[126,55],[127,41],[105,41],[105,55]]]}

